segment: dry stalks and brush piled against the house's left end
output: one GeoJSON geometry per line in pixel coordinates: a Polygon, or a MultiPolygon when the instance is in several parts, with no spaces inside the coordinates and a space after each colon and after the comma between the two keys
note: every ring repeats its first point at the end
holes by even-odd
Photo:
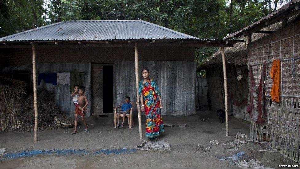
{"type": "MultiPolygon", "coordinates": [[[[26,95],[26,83],[0,76],[0,131],[34,130],[33,94],[26,95]]],[[[38,91],[38,130],[73,127],[74,118],[63,113],[54,96],[46,90],[38,91]]]]}

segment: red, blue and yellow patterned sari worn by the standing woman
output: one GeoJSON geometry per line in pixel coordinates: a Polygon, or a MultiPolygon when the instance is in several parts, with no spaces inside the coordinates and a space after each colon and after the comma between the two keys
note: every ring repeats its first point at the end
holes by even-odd
{"type": "Polygon", "coordinates": [[[146,115],[146,137],[159,137],[164,132],[163,119],[160,115],[160,101],[158,95],[160,91],[153,79],[143,84],[143,79],[139,84],[139,95],[143,94],[145,115],[146,115]]]}

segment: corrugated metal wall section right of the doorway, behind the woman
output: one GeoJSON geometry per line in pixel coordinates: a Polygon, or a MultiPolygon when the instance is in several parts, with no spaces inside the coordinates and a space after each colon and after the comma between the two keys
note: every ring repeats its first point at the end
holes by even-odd
{"type": "MultiPolygon", "coordinates": [[[[139,79],[143,68],[150,70],[150,78],[158,84],[163,100],[162,115],[195,114],[195,62],[140,61],[139,79]]],[[[125,96],[136,102],[134,62],[115,62],[114,69],[115,105],[122,103],[125,96]]]]}

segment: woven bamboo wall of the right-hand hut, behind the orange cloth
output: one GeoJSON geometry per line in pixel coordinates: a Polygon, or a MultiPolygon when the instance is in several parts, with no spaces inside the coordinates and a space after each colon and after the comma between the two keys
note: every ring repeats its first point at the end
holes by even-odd
{"type": "Polygon", "coordinates": [[[251,124],[251,140],[300,163],[300,22],[265,36],[248,45],[248,64],[252,66],[256,84],[259,83],[262,63],[267,64],[265,81],[264,124],[251,124]],[[270,69],[274,59],[281,60],[280,103],[271,102],[273,80],[270,69]],[[253,65],[255,64],[255,65],[253,65]]]}

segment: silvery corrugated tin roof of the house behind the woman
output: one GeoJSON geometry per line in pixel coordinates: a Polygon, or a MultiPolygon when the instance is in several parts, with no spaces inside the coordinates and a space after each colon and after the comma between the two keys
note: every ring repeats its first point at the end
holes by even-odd
{"type": "Polygon", "coordinates": [[[63,21],[26,30],[0,38],[0,41],[50,40],[133,40],[133,39],[195,39],[199,38],[146,21],[89,20],[63,21]]]}

